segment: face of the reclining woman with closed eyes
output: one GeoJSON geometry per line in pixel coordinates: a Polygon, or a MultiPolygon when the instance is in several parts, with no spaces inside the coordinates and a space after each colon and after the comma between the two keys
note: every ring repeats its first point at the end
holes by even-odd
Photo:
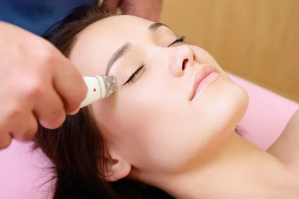
{"type": "Polygon", "coordinates": [[[95,102],[94,113],[112,148],[145,172],[183,169],[232,133],[248,105],[247,93],[208,52],[176,39],[164,25],[113,16],[86,28],[70,56],[83,76],[108,67],[117,78],[118,92],[95,102]]]}

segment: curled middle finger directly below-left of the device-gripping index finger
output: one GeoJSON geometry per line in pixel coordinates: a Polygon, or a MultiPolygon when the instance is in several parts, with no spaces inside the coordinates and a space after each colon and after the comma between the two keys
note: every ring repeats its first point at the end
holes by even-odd
{"type": "Polygon", "coordinates": [[[63,101],[53,88],[48,89],[46,95],[36,102],[33,112],[39,123],[49,129],[61,126],[66,117],[63,101]]]}

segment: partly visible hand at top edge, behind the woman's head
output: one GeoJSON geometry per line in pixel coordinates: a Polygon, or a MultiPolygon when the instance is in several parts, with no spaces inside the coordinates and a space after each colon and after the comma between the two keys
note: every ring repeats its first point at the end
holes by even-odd
{"type": "Polygon", "coordinates": [[[161,16],[163,0],[104,0],[109,9],[120,7],[124,14],[139,16],[158,22],[161,16]]]}

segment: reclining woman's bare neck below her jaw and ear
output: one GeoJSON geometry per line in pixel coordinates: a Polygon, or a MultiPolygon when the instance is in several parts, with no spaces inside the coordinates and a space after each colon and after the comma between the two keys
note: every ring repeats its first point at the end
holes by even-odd
{"type": "Polygon", "coordinates": [[[294,194],[286,167],[237,133],[207,153],[184,172],[151,174],[146,182],[177,199],[281,199],[286,192],[294,194]]]}

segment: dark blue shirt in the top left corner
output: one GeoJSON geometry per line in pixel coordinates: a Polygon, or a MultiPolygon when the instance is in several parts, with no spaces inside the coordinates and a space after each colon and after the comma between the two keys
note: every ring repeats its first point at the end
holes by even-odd
{"type": "Polygon", "coordinates": [[[41,35],[71,9],[90,1],[98,0],[0,0],[0,20],[41,35]]]}

